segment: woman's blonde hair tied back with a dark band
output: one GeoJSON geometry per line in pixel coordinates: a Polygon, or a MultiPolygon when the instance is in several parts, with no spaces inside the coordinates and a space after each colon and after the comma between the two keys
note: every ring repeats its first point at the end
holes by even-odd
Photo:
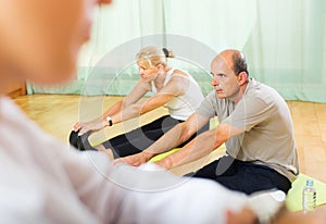
{"type": "Polygon", "coordinates": [[[155,46],[148,46],[142,48],[136,55],[137,63],[143,63],[149,67],[162,64],[164,67],[167,65],[166,58],[174,58],[172,50],[166,48],[158,48],[155,46]]]}

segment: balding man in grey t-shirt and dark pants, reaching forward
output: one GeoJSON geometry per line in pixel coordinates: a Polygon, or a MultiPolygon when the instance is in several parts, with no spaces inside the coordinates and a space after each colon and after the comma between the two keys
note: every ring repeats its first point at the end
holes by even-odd
{"type": "Polygon", "coordinates": [[[217,116],[216,128],[198,135],[156,164],[168,170],[202,158],[225,142],[226,155],[196,172],[195,177],[214,179],[248,195],[273,188],[287,192],[299,174],[287,103],[276,90],[249,77],[244,55],[238,50],[216,55],[211,74],[214,90],[196,113],[141,153],[120,161],[131,165],[145,163],[186,141],[217,116]]]}

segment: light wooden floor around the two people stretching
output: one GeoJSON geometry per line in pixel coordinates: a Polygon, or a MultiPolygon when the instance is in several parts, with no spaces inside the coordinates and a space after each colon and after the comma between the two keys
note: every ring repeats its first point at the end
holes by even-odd
{"type": "MultiPolygon", "coordinates": [[[[39,124],[41,128],[59,139],[68,142],[68,134],[78,121],[89,121],[103,113],[120,97],[83,97],[67,95],[32,95],[17,97],[14,101],[26,112],[27,116],[39,124]]],[[[298,147],[301,173],[326,183],[326,103],[288,101],[293,123],[298,147]]],[[[91,137],[91,142],[100,142],[106,138],[127,132],[139,124],[153,120],[158,114],[166,113],[158,109],[142,116],[108,127],[91,137]]],[[[212,160],[223,151],[214,152],[200,163],[188,164],[184,169],[176,169],[176,174],[184,170],[196,170],[212,160]]]]}

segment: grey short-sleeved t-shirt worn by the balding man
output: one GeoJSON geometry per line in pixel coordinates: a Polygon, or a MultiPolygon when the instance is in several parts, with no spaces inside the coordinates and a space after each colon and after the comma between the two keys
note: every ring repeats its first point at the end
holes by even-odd
{"type": "Polygon", "coordinates": [[[220,123],[244,130],[225,142],[233,158],[266,165],[291,182],[296,179],[299,163],[292,119],[287,103],[273,88],[250,79],[236,107],[212,91],[196,113],[217,116],[220,123]]]}

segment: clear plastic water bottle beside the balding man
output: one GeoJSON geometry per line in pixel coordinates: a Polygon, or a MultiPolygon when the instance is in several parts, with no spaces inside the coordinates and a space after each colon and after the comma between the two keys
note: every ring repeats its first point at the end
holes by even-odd
{"type": "Polygon", "coordinates": [[[306,179],[302,190],[302,210],[304,213],[314,211],[316,207],[316,189],[312,179],[306,179]]]}

